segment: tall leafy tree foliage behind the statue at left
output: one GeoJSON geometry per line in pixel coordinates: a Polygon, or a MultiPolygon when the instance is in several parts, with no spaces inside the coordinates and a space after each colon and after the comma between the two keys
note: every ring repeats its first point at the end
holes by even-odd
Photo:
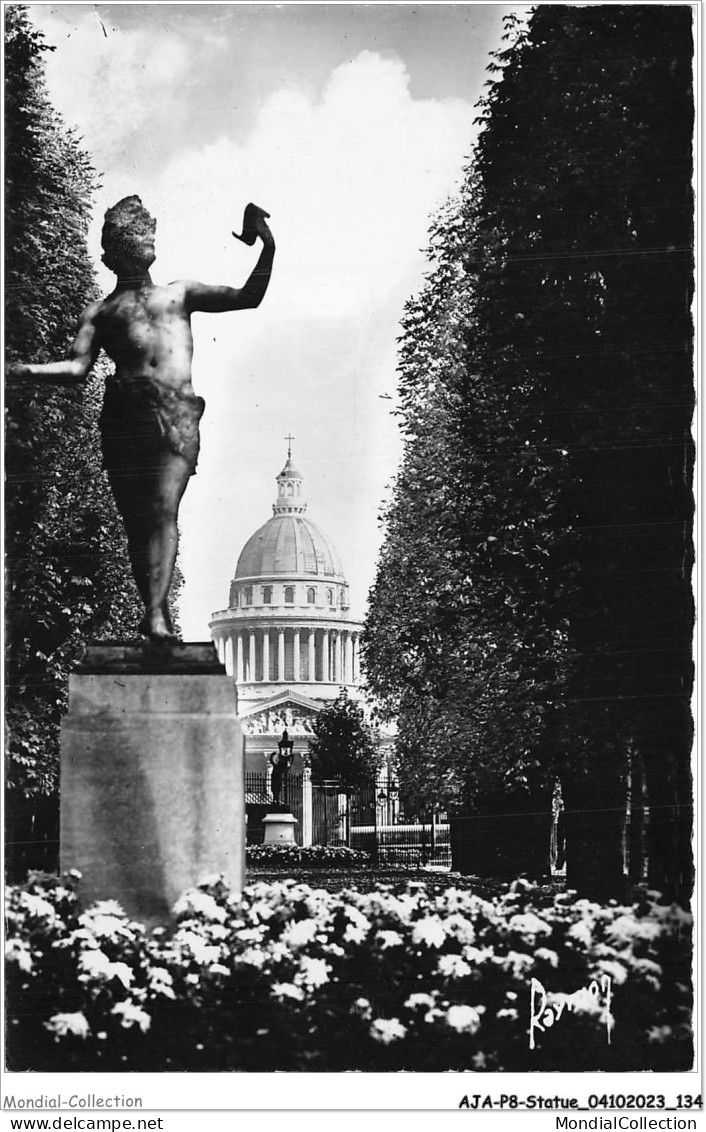
{"type": "MultiPolygon", "coordinates": [[[[97,182],[48,100],[51,49],[21,6],[5,17],[6,361],[46,362],[66,357],[96,297],[86,233],[97,182]]],[[[68,672],[85,641],[137,635],[140,603],[101,466],[105,372],[101,360],[80,386],[25,379],[6,389],[10,842],[40,837],[42,798],[57,790],[68,672]]]]}

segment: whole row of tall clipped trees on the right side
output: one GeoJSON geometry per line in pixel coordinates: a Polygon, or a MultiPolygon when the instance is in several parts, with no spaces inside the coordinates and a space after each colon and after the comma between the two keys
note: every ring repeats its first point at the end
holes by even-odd
{"type": "Polygon", "coordinates": [[[399,350],[403,464],[364,660],[407,790],[566,805],[569,883],[690,890],[687,7],[507,22],[399,350]],[[642,869],[632,838],[634,871],[642,869]]]}

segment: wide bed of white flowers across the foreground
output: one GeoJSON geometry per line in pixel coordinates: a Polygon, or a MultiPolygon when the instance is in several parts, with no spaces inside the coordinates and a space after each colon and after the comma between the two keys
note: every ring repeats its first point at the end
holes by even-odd
{"type": "Polygon", "coordinates": [[[171,931],[75,881],[9,890],[7,1058],[43,1071],[679,1070],[691,1065],[690,919],[516,882],[484,900],[423,884],[328,893],[221,882],[171,931]],[[530,1049],[532,978],[612,983],[530,1049]]]}

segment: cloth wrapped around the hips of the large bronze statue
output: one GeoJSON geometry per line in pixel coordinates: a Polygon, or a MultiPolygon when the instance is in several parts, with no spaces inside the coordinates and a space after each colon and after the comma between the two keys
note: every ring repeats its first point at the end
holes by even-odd
{"type": "Polygon", "coordinates": [[[206,402],[154,377],[105,383],[101,413],[103,462],[109,472],[147,472],[160,452],[181,456],[196,472],[199,421],[206,402]]]}

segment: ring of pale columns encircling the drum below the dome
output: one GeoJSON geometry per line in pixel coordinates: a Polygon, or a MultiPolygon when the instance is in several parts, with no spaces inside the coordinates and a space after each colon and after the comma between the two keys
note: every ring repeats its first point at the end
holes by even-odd
{"type": "Polygon", "coordinates": [[[355,684],[360,633],[335,628],[231,628],[215,638],[236,684],[355,684]]]}

